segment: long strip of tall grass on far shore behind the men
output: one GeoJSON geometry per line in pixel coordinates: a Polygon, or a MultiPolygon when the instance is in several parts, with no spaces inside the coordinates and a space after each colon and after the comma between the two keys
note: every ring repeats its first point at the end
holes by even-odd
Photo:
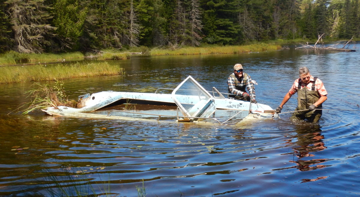
{"type": "Polygon", "coordinates": [[[194,55],[194,54],[236,54],[241,52],[258,52],[265,50],[278,50],[280,45],[266,43],[255,43],[244,46],[203,46],[183,47],[178,49],[156,49],[150,51],[150,55],[194,55]]]}

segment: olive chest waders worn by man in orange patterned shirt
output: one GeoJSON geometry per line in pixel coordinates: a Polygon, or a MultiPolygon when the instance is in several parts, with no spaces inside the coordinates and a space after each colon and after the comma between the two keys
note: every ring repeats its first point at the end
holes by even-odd
{"type": "MultiPolygon", "coordinates": [[[[307,87],[303,87],[301,89],[301,82],[299,79],[299,86],[297,90],[297,107],[295,109],[296,112],[292,113],[292,120],[305,120],[308,119],[309,122],[316,123],[319,121],[322,110],[311,110],[311,111],[298,111],[298,110],[306,110],[309,109],[309,106],[314,104],[319,100],[320,95],[317,90],[315,90],[315,81],[318,77],[314,77],[314,82],[312,83],[311,90],[307,89],[307,87]]],[[[316,109],[323,109],[322,104],[316,107],[316,109]]]]}

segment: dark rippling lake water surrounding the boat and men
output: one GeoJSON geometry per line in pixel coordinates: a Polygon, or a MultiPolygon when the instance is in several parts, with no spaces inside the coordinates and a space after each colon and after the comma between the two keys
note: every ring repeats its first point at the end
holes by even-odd
{"type": "MultiPolygon", "coordinates": [[[[235,63],[275,109],[307,66],[328,91],[319,124],[290,113],[246,128],[95,120],[9,112],[32,83],[0,85],[0,196],[359,196],[359,62],[356,52],[282,50],[110,61],[123,76],[63,80],[71,98],[105,90],[154,92],[192,75],[226,92],[235,63]],[[347,109],[347,110],[345,110],[347,109]],[[60,186],[62,185],[62,186],[60,186]],[[57,188],[63,188],[61,192],[57,188]]],[[[293,111],[296,96],[283,112],[293,111]]]]}

